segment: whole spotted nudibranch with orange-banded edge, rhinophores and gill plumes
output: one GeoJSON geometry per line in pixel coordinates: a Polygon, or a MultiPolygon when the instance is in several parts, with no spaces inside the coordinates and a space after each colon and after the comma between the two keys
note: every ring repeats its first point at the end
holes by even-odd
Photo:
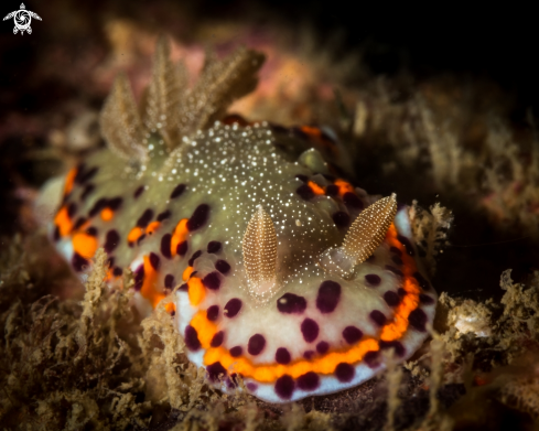
{"type": "Polygon", "coordinates": [[[407,207],[336,175],[332,134],[224,116],[256,85],[240,49],[184,74],[155,52],[137,106],[119,77],[100,117],[108,149],[65,176],[51,236],[84,273],[98,247],[110,285],[166,306],[188,359],[224,391],[287,402],[356,386],[428,336],[436,294],[407,207]],[[330,151],[327,151],[330,149],[330,151]]]}

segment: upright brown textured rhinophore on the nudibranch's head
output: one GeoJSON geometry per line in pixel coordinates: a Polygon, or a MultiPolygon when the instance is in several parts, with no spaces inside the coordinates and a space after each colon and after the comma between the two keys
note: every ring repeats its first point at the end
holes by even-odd
{"type": "Polygon", "coordinates": [[[247,225],[242,249],[251,292],[265,295],[276,281],[277,234],[271,217],[261,206],[247,225]]]}

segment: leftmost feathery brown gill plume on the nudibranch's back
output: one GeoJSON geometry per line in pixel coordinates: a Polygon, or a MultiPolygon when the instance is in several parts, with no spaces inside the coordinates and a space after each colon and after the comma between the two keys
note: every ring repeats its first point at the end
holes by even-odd
{"type": "Polygon", "coordinates": [[[110,150],[122,159],[147,159],[147,148],[142,144],[142,123],[129,82],[125,75],[116,78],[105,107],[99,126],[110,150]]]}

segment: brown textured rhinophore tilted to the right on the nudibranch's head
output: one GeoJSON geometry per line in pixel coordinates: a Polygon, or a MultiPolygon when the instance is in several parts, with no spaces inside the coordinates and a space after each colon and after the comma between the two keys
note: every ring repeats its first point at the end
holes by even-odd
{"type": "Polygon", "coordinates": [[[343,248],[355,265],[369,258],[384,241],[387,229],[397,214],[396,194],[384,197],[362,212],[352,224],[343,248]]]}

